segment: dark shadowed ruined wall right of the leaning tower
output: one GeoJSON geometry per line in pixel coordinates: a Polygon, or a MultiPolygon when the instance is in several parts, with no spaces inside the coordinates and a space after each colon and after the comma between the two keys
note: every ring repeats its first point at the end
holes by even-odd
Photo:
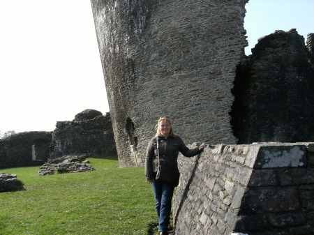
{"type": "Polygon", "coordinates": [[[260,38],[237,66],[232,93],[238,144],[314,140],[314,70],[311,40],[295,29],[260,38]]]}

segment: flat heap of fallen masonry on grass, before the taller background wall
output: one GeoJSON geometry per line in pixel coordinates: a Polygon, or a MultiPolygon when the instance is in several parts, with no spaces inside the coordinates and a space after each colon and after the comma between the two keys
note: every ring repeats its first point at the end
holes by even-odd
{"type": "Polygon", "coordinates": [[[89,154],[83,154],[79,156],[63,156],[62,158],[50,158],[42,165],[38,172],[39,176],[45,176],[49,174],[68,173],[68,172],[87,172],[94,171],[94,167],[89,165],[85,159],[89,157],[89,154]]]}

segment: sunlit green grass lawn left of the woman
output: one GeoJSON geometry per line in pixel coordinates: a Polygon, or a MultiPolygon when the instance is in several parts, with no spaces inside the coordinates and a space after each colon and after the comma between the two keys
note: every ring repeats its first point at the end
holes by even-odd
{"type": "Polygon", "coordinates": [[[38,167],[1,169],[17,174],[24,190],[0,193],[0,234],[148,234],[157,215],[144,169],[88,160],[95,171],[38,176],[38,167]]]}

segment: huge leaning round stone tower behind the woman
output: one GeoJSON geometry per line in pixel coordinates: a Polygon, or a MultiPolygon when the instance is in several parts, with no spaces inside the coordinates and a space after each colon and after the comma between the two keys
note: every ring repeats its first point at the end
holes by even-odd
{"type": "Polygon", "coordinates": [[[235,144],[248,0],[91,0],[121,167],[144,165],[159,116],[186,144],[235,144]]]}

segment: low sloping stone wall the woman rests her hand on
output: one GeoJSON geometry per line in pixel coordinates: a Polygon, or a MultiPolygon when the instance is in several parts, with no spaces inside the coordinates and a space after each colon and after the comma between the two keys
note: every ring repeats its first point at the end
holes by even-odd
{"type": "Polygon", "coordinates": [[[314,234],[314,143],[207,146],[179,167],[175,234],[314,234]]]}

